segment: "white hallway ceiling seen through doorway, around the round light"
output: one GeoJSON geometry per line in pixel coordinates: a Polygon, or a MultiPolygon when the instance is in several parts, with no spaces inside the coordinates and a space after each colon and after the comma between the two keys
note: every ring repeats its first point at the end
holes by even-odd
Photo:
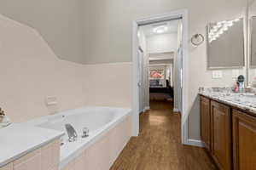
{"type": "Polygon", "coordinates": [[[157,26],[167,26],[168,30],[162,34],[170,34],[177,33],[178,23],[180,20],[170,20],[166,22],[159,22],[156,24],[140,26],[140,29],[144,32],[146,37],[158,35],[158,33],[154,33],[154,28],[157,26]]]}

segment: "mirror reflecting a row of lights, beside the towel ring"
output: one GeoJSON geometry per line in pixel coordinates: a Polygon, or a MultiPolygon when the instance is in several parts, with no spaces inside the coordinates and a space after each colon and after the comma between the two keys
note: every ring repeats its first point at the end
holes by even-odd
{"type": "Polygon", "coordinates": [[[244,20],[224,20],[207,26],[208,69],[236,69],[245,66],[244,20]]]}

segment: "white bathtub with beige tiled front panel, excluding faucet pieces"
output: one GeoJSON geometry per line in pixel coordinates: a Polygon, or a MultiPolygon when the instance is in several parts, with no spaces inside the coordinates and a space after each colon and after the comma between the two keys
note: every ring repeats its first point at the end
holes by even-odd
{"type": "Polygon", "coordinates": [[[67,123],[75,128],[76,141],[68,142],[67,134],[61,141],[60,169],[65,170],[109,169],[131,138],[132,128],[130,109],[108,107],[84,107],[28,123],[60,132],[66,132],[67,123]],[[82,138],[84,127],[90,130],[87,138],[82,138]]]}

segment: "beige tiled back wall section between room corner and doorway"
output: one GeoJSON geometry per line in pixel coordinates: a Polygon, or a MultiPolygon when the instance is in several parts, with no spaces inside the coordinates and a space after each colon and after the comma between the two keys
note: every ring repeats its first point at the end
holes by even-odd
{"type": "Polygon", "coordinates": [[[131,63],[86,65],[86,105],[131,108],[131,63]]]}

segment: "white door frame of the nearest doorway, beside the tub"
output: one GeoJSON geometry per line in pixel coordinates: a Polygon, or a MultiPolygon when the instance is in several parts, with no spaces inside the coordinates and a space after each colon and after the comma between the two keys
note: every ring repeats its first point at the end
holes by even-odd
{"type": "Polygon", "coordinates": [[[133,111],[133,117],[132,117],[132,122],[133,122],[133,135],[138,136],[139,133],[139,102],[138,102],[138,68],[137,68],[137,62],[138,62],[138,57],[137,57],[137,49],[139,47],[138,44],[138,37],[137,37],[137,31],[138,31],[138,26],[140,25],[145,25],[145,24],[150,24],[154,22],[159,22],[159,21],[164,21],[164,20],[174,20],[177,18],[182,18],[183,22],[183,90],[182,90],[182,97],[183,97],[183,104],[182,104],[182,127],[181,127],[181,136],[182,136],[182,143],[183,144],[189,144],[188,141],[188,116],[189,112],[187,111],[187,103],[188,103],[188,96],[185,96],[187,92],[187,72],[188,72],[188,65],[186,63],[188,62],[188,48],[189,48],[189,22],[188,22],[188,10],[187,9],[182,9],[182,10],[177,10],[177,11],[172,11],[171,13],[168,14],[159,14],[156,16],[151,16],[148,18],[140,19],[140,20],[134,20],[132,23],[133,29],[132,29],[132,111],[133,111]]]}

